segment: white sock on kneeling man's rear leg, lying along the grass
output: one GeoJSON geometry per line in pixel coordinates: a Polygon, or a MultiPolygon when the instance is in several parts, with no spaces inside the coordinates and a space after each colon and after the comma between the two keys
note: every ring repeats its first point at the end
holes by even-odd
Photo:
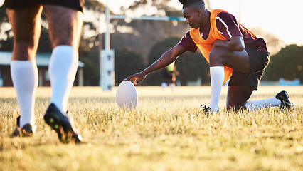
{"type": "Polygon", "coordinates": [[[245,107],[248,109],[248,111],[252,111],[261,108],[280,106],[280,105],[281,105],[281,100],[277,98],[267,98],[262,100],[248,100],[248,102],[245,104],[245,107]]]}

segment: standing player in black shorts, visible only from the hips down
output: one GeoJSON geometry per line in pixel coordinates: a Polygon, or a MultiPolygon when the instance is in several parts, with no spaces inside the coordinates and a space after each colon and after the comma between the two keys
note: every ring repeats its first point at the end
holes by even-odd
{"type": "Polygon", "coordinates": [[[36,130],[36,51],[44,8],[53,46],[48,66],[53,93],[44,120],[58,133],[61,142],[81,142],[82,138],[68,115],[68,97],[78,68],[84,0],[6,0],[5,4],[14,32],[11,78],[20,108],[20,116],[11,136],[31,136],[36,130]]]}

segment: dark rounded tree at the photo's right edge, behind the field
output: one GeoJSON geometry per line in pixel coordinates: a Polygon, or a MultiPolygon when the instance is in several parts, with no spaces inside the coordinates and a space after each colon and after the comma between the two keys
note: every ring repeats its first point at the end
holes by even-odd
{"type": "Polygon", "coordinates": [[[279,53],[272,56],[270,64],[265,69],[264,78],[277,81],[279,78],[303,81],[303,46],[295,44],[282,48],[279,53]]]}

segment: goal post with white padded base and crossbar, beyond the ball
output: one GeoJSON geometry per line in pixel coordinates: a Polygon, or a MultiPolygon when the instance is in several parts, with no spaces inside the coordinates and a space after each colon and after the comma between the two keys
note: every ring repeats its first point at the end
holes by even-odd
{"type": "Polygon", "coordinates": [[[136,19],[136,20],[154,20],[154,21],[186,21],[184,17],[171,16],[140,16],[128,17],[123,15],[110,15],[110,11],[105,6],[105,49],[100,51],[100,86],[102,90],[112,90],[115,86],[115,51],[110,49],[110,19],[136,19]]]}

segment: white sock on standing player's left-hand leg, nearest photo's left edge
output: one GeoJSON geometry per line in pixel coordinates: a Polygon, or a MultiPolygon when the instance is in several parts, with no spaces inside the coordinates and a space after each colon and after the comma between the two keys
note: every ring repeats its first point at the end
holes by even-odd
{"type": "Polygon", "coordinates": [[[20,108],[20,127],[26,124],[35,125],[33,113],[35,95],[38,86],[38,68],[36,60],[11,61],[11,79],[17,94],[20,108]]]}

